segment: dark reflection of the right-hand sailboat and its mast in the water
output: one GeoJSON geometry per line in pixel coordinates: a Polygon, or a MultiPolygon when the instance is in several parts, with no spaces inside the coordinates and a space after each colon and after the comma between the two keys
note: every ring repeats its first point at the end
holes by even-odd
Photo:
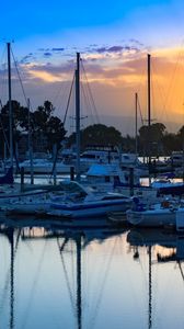
{"type": "Polygon", "coordinates": [[[127,235],[127,242],[133,247],[133,259],[138,260],[140,248],[148,253],[148,328],[152,328],[152,265],[176,261],[184,281],[181,262],[184,260],[184,236],[175,231],[159,228],[133,228],[127,235]],[[152,260],[152,249],[156,259],[152,260]]]}

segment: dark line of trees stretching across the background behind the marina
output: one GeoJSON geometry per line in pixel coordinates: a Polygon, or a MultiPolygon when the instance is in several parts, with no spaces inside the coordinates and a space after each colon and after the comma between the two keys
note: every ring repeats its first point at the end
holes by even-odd
{"type": "MultiPolygon", "coordinates": [[[[18,101],[12,101],[13,112],[13,144],[19,144],[22,136],[30,132],[34,141],[46,138],[46,151],[51,151],[53,146],[61,148],[62,141],[68,147],[76,144],[76,133],[67,137],[67,131],[59,117],[54,115],[55,109],[49,101],[45,101],[34,112],[27,106],[22,106],[18,101]]],[[[0,113],[0,138],[9,143],[9,102],[2,106],[0,113]]],[[[126,135],[122,136],[113,126],[94,124],[81,129],[81,150],[87,146],[111,146],[118,147],[124,151],[146,156],[151,151],[152,156],[170,155],[173,150],[182,150],[184,147],[184,125],[177,133],[169,133],[162,123],[153,123],[150,127],[142,125],[138,131],[137,138],[126,135]]],[[[3,155],[3,143],[0,145],[0,155],[3,155]]]]}

